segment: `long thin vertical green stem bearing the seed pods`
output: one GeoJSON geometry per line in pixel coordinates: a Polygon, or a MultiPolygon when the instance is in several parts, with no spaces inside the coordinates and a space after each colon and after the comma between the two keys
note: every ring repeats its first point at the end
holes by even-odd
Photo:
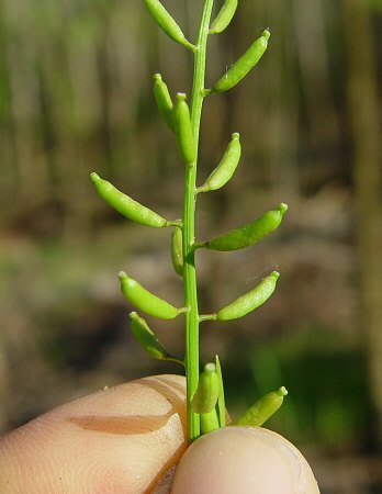
{"type": "Polygon", "coordinates": [[[194,75],[191,97],[191,125],[195,146],[195,161],[187,167],[183,201],[183,252],[184,252],[184,301],[190,311],[186,313],[186,377],[187,416],[189,441],[200,436],[200,417],[192,411],[191,398],[199,381],[199,312],[196,272],[193,243],[195,238],[195,181],[199,148],[199,131],[204,99],[206,41],[214,0],[204,0],[203,13],[194,52],[194,75]]]}

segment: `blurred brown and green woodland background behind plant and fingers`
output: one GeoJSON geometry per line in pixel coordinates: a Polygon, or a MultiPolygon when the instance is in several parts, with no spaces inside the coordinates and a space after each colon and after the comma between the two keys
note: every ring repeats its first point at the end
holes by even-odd
{"type": "MultiPolygon", "coordinates": [[[[164,2],[195,40],[202,2],[164,2]]],[[[215,2],[215,10],[221,2],[215,2]]],[[[379,0],[240,2],[210,37],[211,87],[271,29],[238,87],[204,104],[199,184],[233,132],[234,179],[198,201],[198,237],[280,202],[282,227],[237,252],[198,254],[202,313],[273,269],[273,297],[232,323],[204,323],[202,362],[218,353],[237,416],[290,392],[269,427],[310,459],[322,492],[382,493],[381,43],[379,0]]],[[[169,231],[105,205],[93,170],[169,218],[183,165],[160,121],[153,75],[191,92],[192,56],[132,0],[0,0],[0,430],[85,393],[176,364],[128,333],[117,272],[179,306],[169,231]]],[[[147,317],[182,355],[182,319],[147,317]]]]}

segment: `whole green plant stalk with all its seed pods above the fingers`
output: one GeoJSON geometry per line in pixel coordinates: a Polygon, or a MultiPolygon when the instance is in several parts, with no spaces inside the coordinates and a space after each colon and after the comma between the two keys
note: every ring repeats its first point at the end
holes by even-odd
{"type": "MultiPolygon", "coordinates": [[[[190,105],[182,92],[177,93],[173,105],[170,92],[161,76],[154,76],[154,94],[165,123],[175,131],[179,154],[186,164],[183,214],[181,221],[168,221],[148,207],[139,204],[128,195],[119,191],[110,182],[102,180],[97,173],[91,178],[99,194],[115,210],[130,220],[153,227],[175,226],[171,236],[171,259],[175,271],[184,280],[184,306],[177,308],[165,300],[154,295],[125,272],[120,273],[121,289],[126,299],[137,308],[156,317],[170,319],[180,314],[186,316],[186,377],[189,440],[225,426],[225,398],[222,370],[218,357],[207,363],[199,374],[199,325],[202,321],[231,321],[243,317],[261,304],[273,293],[279,278],[277,271],[271,272],[248,293],[222,307],[215,313],[200,315],[198,310],[196,270],[194,252],[196,248],[214,250],[235,250],[248,247],[273,232],[281,223],[286,211],[280,204],[274,211],[265,213],[260,218],[232,232],[223,234],[205,243],[195,242],[195,202],[200,192],[221,189],[233,177],[240,158],[241,145],[239,134],[235,132],[232,141],[215,170],[205,183],[196,188],[196,166],[199,150],[199,133],[204,99],[212,93],[220,93],[234,88],[260,60],[268,46],[269,30],[265,30],[241,57],[212,87],[205,89],[205,59],[207,37],[221,33],[232,21],[237,0],[226,0],[215,21],[210,25],[213,0],[204,0],[199,35],[195,44],[190,43],[181,27],[158,0],[144,0],[153,19],[159,27],[173,41],[189,48],[194,55],[194,77],[190,105]]],[[[180,359],[170,356],[156,338],[147,323],[135,312],[131,314],[132,332],[148,353],[160,360],[180,359]]],[[[267,394],[256,403],[239,424],[261,425],[282,404],[286,394],[284,388],[267,394]]]]}

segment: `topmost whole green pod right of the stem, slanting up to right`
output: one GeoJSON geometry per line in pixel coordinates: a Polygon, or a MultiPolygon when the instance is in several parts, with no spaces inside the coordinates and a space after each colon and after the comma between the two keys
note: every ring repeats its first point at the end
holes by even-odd
{"type": "Polygon", "coordinates": [[[210,92],[227,91],[244,79],[267,49],[269,36],[270,32],[265,30],[261,36],[249,46],[247,52],[218,79],[210,92]]]}

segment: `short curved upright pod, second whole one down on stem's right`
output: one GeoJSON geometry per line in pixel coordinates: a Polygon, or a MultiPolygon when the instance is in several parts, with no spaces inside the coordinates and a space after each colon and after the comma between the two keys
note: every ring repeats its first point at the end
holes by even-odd
{"type": "Polygon", "coordinates": [[[232,141],[228,144],[221,162],[205,180],[205,183],[196,189],[196,192],[217,190],[221,187],[225,186],[234,175],[239,162],[240,155],[240,135],[238,132],[235,132],[232,135],[232,141]]]}

